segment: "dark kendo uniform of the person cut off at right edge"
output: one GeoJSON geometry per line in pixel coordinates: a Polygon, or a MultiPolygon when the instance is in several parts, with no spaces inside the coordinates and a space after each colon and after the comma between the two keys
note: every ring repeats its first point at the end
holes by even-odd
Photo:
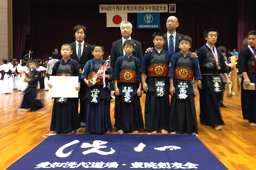
{"type": "MultiPolygon", "coordinates": [[[[247,46],[239,55],[239,72],[247,72],[251,83],[256,83],[256,55],[255,48],[247,46]],[[251,49],[250,49],[250,48],[251,49]],[[254,54],[254,55],[253,55],[254,54]]],[[[243,76],[241,81],[241,104],[243,119],[256,123],[256,90],[243,89],[243,76]]]]}

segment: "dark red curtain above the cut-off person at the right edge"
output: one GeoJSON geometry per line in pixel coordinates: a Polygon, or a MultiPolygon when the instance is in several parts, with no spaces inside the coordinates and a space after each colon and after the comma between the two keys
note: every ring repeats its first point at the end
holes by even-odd
{"type": "Polygon", "coordinates": [[[238,0],[238,45],[237,50],[240,53],[243,50],[242,42],[248,33],[256,30],[255,0],[238,0]]]}

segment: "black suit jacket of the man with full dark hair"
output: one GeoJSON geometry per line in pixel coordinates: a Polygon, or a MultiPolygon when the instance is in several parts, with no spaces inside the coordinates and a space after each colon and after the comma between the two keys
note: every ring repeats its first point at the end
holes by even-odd
{"type": "Polygon", "coordinates": [[[92,55],[92,45],[89,45],[88,43],[85,42],[80,61],[78,61],[78,57],[76,55],[75,42],[72,42],[70,45],[73,51],[73,54],[70,57],[75,61],[77,61],[80,64],[80,67],[83,69],[85,67],[86,62],[94,58],[92,55]]]}

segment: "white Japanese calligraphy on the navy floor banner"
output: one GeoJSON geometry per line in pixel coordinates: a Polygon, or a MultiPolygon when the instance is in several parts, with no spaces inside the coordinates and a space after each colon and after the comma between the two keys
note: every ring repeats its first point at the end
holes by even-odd
{"type": "MultiPolygon", "coordinates": [[[[68,153],[63,153],[63,150],[74,145],[74,144],[78,144],[80,141],[79,140],[74,140],[72,142],[69,142],[68,144],[64,144],[62,147],[60,147],[57,151],[56,151],[56,156],[57,157],[68,157],[69,155],[72,154],[72,151],[69,151],[68,153]]],[[[99,141],[99,140],[95,140],[92,142],[92,144],[90,143],[82,143],[81,148],[91,148],[87,151],[83,151],[82,154],[86,155],[86,154],[90,154],[90,153],[97,153],[97,154],[101,154],[101,155],[108,155],[108,154],[114,154],[115,150],[113,148],[110,148],[110,151],[105,152],[105,151],[100,151],[100,149],[102,148],[107,148],[107,146],[104,146],[104,144],[107,144],[107,141],[99,141]]],[[[146,147],[146,144],[140,143],[137,147],[134,148],[134,151],[136,152],[141,152],[143,151],[143,149],[146,147]]],[[[154,148],[155,150],[158,151],[165,151],[166,149],[169,149],[170,151],[175,151],[177,149],[181,149],[181,147],[178,146],[164,146],[164,147],[159,147],[159,148],[154,148]]],[[[119,164],[118,162],[54,162],[54,163],[50,163],[50,162],[42,162],[40,164],[37,164],[35,169],[38,168],[79,168],[79,167],[83,167],[83,168],[97,168],[97,169],[102,169],[102,168],[118,168],[119,164]]],[[[121,164],[121,166],[126,166],[126,164],[121,164]]],[[[159,162],[159,163],[154,163],[154,162],[133,162],[131,163],[131,167],[129,168],[144,168],[144,169],[148,169],[148,168],[153,168],[153,169],[197,169],[199,166],[199,164],[193,164],[190,162],[187,162],[186,164],[183,163],[178,163],[178,162],[174,162],[174,163],[170,163],[170,162],[159,162]]],[[[120,168],[120,167],[119,167],[120,168]]]]}

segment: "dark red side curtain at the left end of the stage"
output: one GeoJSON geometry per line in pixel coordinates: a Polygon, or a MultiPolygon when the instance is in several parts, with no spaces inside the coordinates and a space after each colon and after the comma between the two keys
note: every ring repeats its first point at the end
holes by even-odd
{"type": "Polygon", "coordinates": [[[30,0],[13,0],[13,58],[22,59],[26,42],[30,0]]]}

